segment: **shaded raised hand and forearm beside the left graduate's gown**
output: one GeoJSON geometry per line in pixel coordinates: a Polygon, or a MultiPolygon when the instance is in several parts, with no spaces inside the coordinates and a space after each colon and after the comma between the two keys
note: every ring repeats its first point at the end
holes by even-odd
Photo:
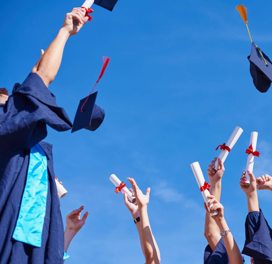
{"type": "MultiPolygon", "coordinates": [[[[85,212],[82,219],[80,220],[80,214],[84,206],[80,206],[78,209],[73,210],[69,215],[66,216],[66,228],[64,230],[64,252],[67,253],[68,247],[75,237],[76,233],[83,227],[89,211],[85,212]]],[[[64,262],[64,260],[63,260],[64,262]]]]}

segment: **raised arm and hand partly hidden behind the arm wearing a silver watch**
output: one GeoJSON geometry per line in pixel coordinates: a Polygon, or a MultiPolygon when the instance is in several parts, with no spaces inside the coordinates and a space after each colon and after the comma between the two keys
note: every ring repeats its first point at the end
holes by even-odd
{"type": "MultiPolygon", "coordinates": [[[[220,201],[221,180],[222,180],[222,176],[225,171],[225,168],[222,161],[219,159],[220,167],[217,170],[217,172],[215,172],[214,168],[215,168],[216,160],[217,158],[214,158],[214,161],[212,161],[211,165],[209,165],[207,172],[208,172],[209,182],[211,184],[210,193],[213,196],[215,196],[217,201],[220,201]]],[[[212,217],[210,217],[209,212],[206,213],[206,216],[205,216],[204,236],[206,237],[211,250],[214,251],[221,237],[219,235],[219,227],[215,223],[215,220],[212,217]]]]}

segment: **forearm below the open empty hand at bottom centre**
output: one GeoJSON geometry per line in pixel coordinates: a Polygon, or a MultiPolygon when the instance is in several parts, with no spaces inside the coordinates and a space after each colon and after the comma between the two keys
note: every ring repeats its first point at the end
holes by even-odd
{"type": "Polygon", "coordinates": [[[146,257],[146,264],[159,264],[157,250],[152,238],[151,226],[147,215],[147,207],[139,208],[140,227],[146,257]]]}

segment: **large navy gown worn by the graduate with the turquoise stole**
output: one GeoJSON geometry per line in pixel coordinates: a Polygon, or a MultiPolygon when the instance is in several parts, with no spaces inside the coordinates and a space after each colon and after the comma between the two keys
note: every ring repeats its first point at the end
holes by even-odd
{"type": "Polygon", "coordinates": [[[0,104],[0,264],[63,262],[63,223],[54,179],[52,145],[40,142],[46,124],[65,131],[72,124],[56,104],[42,79],[35,73],[0,104]],[[12,238],[26,183],[30,149],[40,142],[47,156],[48,193],[41,247],[12,238]]]}

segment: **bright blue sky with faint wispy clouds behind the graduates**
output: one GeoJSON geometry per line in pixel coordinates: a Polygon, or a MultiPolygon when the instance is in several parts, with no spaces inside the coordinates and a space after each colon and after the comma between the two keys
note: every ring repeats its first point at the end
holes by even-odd
{"type": "MultiPolygon", "coordinates": [[[[15,82],[24,81],[65,13],[81,4],[2,3],[0,86],[11,92],[15,82]]],[[[68,190],[60,201],[63,220],[80,205],[90,211],[67,264],[144,263],[133,219],[109,180],[112,173],[120,180],[133,177],[143,191],[151,187],[148,213],[162,263],[202,263],[206,211],[190,164],[199,161],[207,179],[215,148],[235,126],[244,132],[225,161],[221,202],[242,250],[244,152],[257,131],[261,155],[254,173],[271,174],[272,88],[261,94],[252,82],[251,42],[235,9],[239,4],[248,8],[252,40],[271,57],[272,17],[263,13],[272,8],[270,1],[119,0],[112,12],[93,6],[92,22],[68,40],[49,88],[72,121],[99,76],[102,56],[111,61],[96,87],[96,103],[105,110],[99,129],[71,134],[48,128],[45,139],[53,144],[55,173],[68,190]]],[[[272,193],[258,196],[272,225],[272,193]]]]}

